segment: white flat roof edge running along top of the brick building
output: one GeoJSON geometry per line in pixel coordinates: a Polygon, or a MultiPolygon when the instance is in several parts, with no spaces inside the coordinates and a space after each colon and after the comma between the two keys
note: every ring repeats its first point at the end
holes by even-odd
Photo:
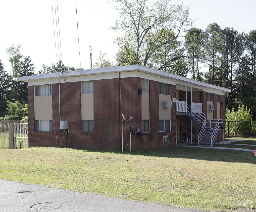
{"type": "MultiPolygon", "coordinates": [[[[86,75],[92,75],[92,74],[116,73],[116,72],[127,72],[127,71],[138,71],[142,73],[151,74],[153,76],[171,79],[176,81],[176,84],[179,84],[180,82],[187,85],[202,86],[202,87],[217,89],[226,93],[231,92],[230,89],[227,89],[224,87],[212,85],[206,82],[200,82],[197,80],[189,79],[187,77],[176,75],[174,73],[160,71],[160,70],[149,68],[142,65],[114,66],[114,67],[96,68],[96,69],[87,69],[87,70],[66,71],[65,76],[76,77],[76,76],[86,76],[86,75]]],[[[61,72],[56,72],[56,73],[47,73],[47,74],[40,74],[40,75],[33,75],[33,76],[18,77],[17,79],[19,81],[29,82],[29,81],[34,81],[38,79],[59,78],[60,76],[63,76],[61,72]]]]}

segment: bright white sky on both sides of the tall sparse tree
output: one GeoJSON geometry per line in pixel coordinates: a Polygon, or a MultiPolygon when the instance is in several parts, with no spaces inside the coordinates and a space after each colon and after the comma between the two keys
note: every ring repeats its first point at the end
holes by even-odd
{"type": "MultiPolygon", "coordinates": [[[[54,6],[54,0],[52,2],[54,6]]],[[[222,29],[233,27],[239,33],[256,29],[256,1],[183,0],[183,3],[191,7],[190,17],[197,19],[194,26],[202,30],[212,22],[218,23],[222,29]]],[[[118,46],[113,41],[118,34],[110,26],[119,17],[118,11],[113,10],[114,5],[116,3],[106,3],[106,0],[77,0],[80,56],[84,69],[90,68],[90,45],[92,65],[100,51],[114,61],[118,46]]],[[[63,63],[80,67],[75,0],[59,0],[58,11],[63,63]]],[[[0,21],[0,60],[7,72],[10,72],[11,65],[6,48],[12,44],[21,44],[22,54],[30,56],[36,71],[42,69],[43,64],[51,66],[57,62],[51,0],[2,0],[0,21]]],[[[57,57],[59,60],[59,55],[57,57]]]]}

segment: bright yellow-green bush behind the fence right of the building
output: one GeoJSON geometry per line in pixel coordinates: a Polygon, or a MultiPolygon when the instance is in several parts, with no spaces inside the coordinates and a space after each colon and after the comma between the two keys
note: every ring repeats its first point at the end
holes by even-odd
{"type": "Polygon", "coordinates": [[[256,135],[255,121],[252,120],[249,109],[244,105],[239,104],[237,111],[234,110],[234,107],[232,107],[232,111],[227,108],[225,121],[230,121],[229,132],[235,135],[249,136],[250,132],[251,135],[256,135]]]}

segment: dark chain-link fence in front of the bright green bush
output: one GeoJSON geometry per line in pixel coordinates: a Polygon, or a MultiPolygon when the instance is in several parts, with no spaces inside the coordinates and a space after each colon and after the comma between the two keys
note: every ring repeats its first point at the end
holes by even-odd
{"type": "Polygon", "coordinates": [[[251,135],[251,121],[225,121],[225,137],[243,137],[251,135]]]}

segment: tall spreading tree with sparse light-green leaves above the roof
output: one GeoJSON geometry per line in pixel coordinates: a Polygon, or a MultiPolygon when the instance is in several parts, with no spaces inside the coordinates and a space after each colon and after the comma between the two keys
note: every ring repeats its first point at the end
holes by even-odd
{"type": "Polygon", "coordinates": [[[120,18],[112,29],[122,30],[124,35],[116,40],[120,47],[116,60],[121,65],[154,64],[161,47],[177,42],[191,23],[189,8],[172,0],[160,0],[150,7],[147,0],[110,1],[119,3],[115,9],[120,11],[120,18]]]}

